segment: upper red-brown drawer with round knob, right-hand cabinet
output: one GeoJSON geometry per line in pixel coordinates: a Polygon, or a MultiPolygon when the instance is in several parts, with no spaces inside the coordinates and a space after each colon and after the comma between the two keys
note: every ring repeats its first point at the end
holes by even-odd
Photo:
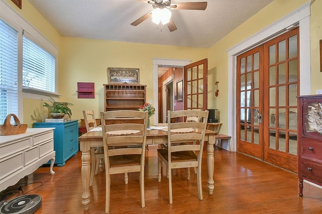
{"type": "Polygon", "coordinates": [[[322,160],[322,142],[314,139],[305,139],[302,144],[302,155],[322,160]]]}

